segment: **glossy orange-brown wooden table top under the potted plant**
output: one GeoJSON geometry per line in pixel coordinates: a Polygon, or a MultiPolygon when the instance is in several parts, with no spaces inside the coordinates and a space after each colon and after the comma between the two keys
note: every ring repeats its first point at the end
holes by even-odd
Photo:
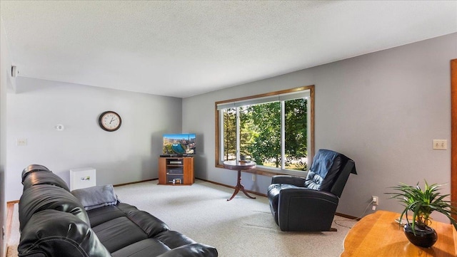
{"type": "Polygon", "coordinates": [[[433,221],[431,227],[438,233],[438,241],[431,248],[414,246],[406,238],[403,227],[395,219],[400,214],[376,211],[369,214],[349,231],[344,239],[341,257],[455,257],[457,231],[451,224],[433,221]]]}

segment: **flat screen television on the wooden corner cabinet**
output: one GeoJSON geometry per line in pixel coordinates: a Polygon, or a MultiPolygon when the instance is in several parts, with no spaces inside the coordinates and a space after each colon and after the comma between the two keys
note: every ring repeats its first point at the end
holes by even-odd
{"type": "Polygon", "coordinates": [[[164,154],[194,155],[195,134],[165,134],[164,154]]]}

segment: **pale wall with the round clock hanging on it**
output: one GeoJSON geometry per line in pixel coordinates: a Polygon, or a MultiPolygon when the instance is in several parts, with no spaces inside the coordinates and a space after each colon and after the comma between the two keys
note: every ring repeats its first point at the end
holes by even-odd
{"type": "Polygon", "coordinates": [[[69,169],[94,167],[97,184],[158,177],[162,135],[181,132],[181,98],[169,98],[49,80],[21,78],[8,94],[6,199],[21,196],[21,172],[43,164],[69,183],[69,169]],[[106,132],[101,112],[114,110],[122,125],[106,132]],[[64,131],[54,126],[62,124],[64,131]],[[16,146],[25,138],[27,146],[16,146]]]}

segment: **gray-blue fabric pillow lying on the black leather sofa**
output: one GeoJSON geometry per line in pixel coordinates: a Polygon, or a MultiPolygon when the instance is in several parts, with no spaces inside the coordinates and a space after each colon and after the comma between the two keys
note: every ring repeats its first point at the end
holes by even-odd
{"type": "Polygon", "coordinates": [[[111,184],[76,189],[71,194],[81,201],[86,210],[117,204],[117,196],[111,184]]]}

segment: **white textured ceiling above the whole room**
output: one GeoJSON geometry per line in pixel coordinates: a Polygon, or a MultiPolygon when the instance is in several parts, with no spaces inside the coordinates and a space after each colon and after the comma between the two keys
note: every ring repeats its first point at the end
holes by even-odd
{"type": "Polygon", "coordinates": [[[20,76],[179,98],[457,32],[457,1],[1,0],[0,11],[20,76]]]}

